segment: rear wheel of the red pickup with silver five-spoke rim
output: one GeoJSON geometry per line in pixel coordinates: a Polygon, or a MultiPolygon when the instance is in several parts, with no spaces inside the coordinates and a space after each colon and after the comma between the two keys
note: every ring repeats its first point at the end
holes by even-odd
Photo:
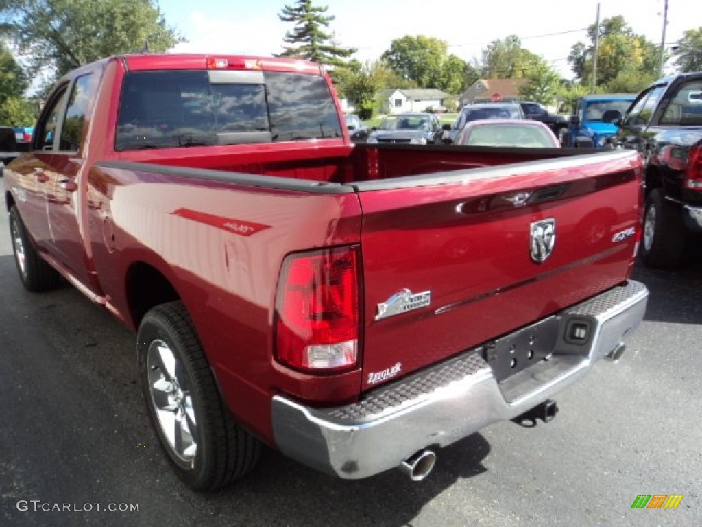
{"type": "Polygon", "coordinates": [[[137,353],[152,424],[180,479],[194,489],[213,490],[253,469],[260,442],[234,422],[220,398],[183,302],[161,304],[146,313],[137,353]],[[170,368],[163,360],[168,353],[174,359],[170,368]]]}

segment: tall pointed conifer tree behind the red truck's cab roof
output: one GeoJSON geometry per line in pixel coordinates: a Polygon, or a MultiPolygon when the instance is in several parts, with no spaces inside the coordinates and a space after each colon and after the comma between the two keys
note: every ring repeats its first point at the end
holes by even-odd
{"type": "Polygon", "coordinates": [[[332,35],[324,32],[329,27],[333,16],[324,13],[329,7],[313,6],[312,0],[298,0],[294,6],[284,6],[278,13],[283,22],[294,22],[295,29],[286,32],[284,42],[291,46],[283,46],[283,53],[278,57],[312,60],[312,62],[333,66],[343,66],[343,59],[356,53],[355,48],[343,48],[332,41],[332,35]]]}

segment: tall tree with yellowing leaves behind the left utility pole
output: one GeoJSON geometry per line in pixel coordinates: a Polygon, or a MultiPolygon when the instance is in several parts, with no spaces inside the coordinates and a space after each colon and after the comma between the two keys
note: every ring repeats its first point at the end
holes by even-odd
{"type": "MultiPolygon", "coordinates": [[[[588,27],[589,43],[578,42],[571,48],[568,61],[576,77],[590,84],[595,53],[595,24],[588,27]]],[[[608,84],[623,70],[655,76],[660,63],[656,44],[637,35],[622,16],[605,18],[600,24],[597,47],[597,84],[608,84]]],[[[631,73],[630,73],[631,74],[631,73]]]]}

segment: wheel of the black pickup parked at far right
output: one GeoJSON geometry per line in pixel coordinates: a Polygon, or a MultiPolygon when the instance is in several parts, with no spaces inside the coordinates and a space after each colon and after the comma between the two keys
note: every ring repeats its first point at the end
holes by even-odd
{"type": "Polygon", "coordinates": [[[639,254],[649,267],[680,266],[685,247],[684,221],[680,210],[665,202],[663,189],[652,190],[646,200],[639,254]]]}

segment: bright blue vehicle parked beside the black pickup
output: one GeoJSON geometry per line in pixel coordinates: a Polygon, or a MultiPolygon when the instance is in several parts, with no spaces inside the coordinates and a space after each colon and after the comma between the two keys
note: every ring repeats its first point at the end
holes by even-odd
{"type": "Polygon", "coordinates": [[[617,133],[617,117],[626,113],[636,93],[595,93],[576,100],[570,124],[559,133],[563,146],[603,148],[617,133]]]}

